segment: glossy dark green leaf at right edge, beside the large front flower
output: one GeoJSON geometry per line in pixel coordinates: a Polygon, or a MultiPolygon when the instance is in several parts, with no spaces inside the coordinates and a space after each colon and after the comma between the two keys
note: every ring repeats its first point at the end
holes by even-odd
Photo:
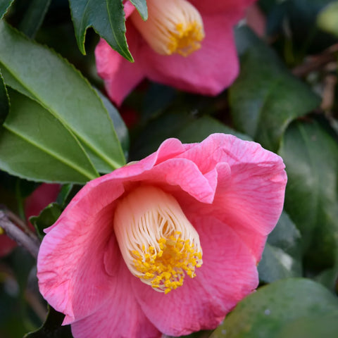
{"type": "Polygon", "coordinates": [[[294,122],[279,154],[288,175],[285,210],[301,230],[307,263],[331,268],[338,242],[337,139],[315,120],[294,122]]]}

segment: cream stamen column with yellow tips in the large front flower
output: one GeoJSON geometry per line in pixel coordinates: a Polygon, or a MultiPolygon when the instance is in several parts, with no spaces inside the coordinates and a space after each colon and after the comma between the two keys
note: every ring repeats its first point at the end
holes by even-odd
{"type": "Polygon", "coordinates": [[[199,234],[175,198],[157,187],[138,187],[118,202],[114,230],[130,272],[168,294],[201,267],[199,234]]]}

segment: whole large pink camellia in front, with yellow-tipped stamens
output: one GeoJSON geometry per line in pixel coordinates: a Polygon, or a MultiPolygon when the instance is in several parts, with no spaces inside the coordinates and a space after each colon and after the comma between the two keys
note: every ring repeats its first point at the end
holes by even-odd
{"type": "Polygon", "coordinates": [[[70,201],[42,241],[39,289],[75,338],[213,329],[258,285],[286,182],[255,142],[167,139],[70,201]]]}

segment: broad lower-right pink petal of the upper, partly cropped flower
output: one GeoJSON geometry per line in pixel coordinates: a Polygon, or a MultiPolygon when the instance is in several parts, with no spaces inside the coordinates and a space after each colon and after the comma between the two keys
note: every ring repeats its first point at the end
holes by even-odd
{"type": "Polygon", "coordinates": [[[203,19],[206,37],[202,47],[186,58],[180,55],[161,56],[148,45],[142,46],[139,52],[147,77],[206,95],[217,95],[232,84],[239,72],[232,23],[224,14],[204,15],[203,19]]]}

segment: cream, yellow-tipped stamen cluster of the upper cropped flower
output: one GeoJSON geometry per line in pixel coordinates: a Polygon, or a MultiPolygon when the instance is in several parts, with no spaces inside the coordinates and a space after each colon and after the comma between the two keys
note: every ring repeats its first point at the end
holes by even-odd
{"type": "Polygon", "coordinates": [[[201,14],[186,0],[147,0],[149,18],[137,11],[130,16],[146,42],[162,55],[188,56],[201,48],[204,26],[201,14]]]}

